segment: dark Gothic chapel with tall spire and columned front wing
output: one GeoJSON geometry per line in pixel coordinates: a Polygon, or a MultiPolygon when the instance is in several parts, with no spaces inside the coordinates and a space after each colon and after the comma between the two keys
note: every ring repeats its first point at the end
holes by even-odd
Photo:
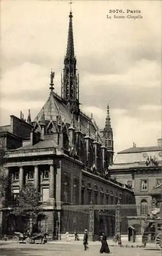
{"type": "MultiPolygon", "coordinates": [[[[0,127],[11,180],[7,200],[16,200],[21,187],[33,182],[41,192],[46,228],[52,235],[57,223],[62,222],[65,204],[115,205],[119,198],[123,203],[127,198],[129,202],[133,200],[132,190],[110,179],[107,172],[114,154],[109,105],[102,130],[98,129],[93,115],[88,117],[79,109],[71,12],[61,97],[53,92],[54,78],[55,73],[51,72],[49,97],[33,121],[29,111],[27,120],[21,113],[20,118],[11,116],[10,125],[0,127]]],[[[61,225],[58,229],[61,232],[61,225]]]]}

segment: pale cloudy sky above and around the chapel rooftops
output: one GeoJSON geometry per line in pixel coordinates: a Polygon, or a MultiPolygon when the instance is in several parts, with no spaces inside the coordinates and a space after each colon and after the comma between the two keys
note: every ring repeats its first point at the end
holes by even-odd
{"type": "MultiPolygon", "coordinates": [[[[61,93],[69,1],[1,1],[0,125],[35,118],[49,96],[50,70],[61,93]]],[[[110,105],[114,150],[157,145],[161,137],[161,1],[72,1],[80,108],[99,128],[110,105]],[[142,19],[109,10],[140,10],[142,19]],[[112,18],[107,18],[107,14],[112,18]],[[116,15],[119,15],[116,14],[116,15]],[[120,14],[121,15],[121,14],[120,14]]]]}

